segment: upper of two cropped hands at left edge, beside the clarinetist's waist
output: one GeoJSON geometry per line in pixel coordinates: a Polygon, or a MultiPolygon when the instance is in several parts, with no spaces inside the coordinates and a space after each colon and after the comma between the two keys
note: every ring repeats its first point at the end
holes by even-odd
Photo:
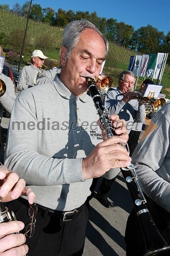
{"type": "Polygon", "coordinates": [[[17,199],[20,196],[28,196],[30,204],[34,203],[35,194],[31,188],[26,187],[26,181],[19,179],[18,175],[10,172],[7,167],[0,166],[0,197],[3,202],[17,199]]]}

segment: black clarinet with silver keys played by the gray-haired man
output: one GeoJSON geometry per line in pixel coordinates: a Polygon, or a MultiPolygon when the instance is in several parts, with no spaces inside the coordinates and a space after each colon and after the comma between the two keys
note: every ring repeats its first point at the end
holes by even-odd
{"type": "MultiPolygon", "coordinates": [[[[112,127],[112,121],[108,116],[108,111],[103,105],[100,93],[96,89],[95,81],[91,77],[86,77],[87,88],[89,89],[91,98],[94,101],[95,108],[99,114],[99,120],[103,124],[107,137],[115,136],[114,129],[112,127]]],[[[125,146],[122,144],[122,146],[125,146]]],[[[161,236],[157,229],[150,212],[145,203],[147,201],[144,198],[142,190],[138,183],[138,177],[135,173],[133,164],[128,167],[120,168],[124,176],[126,185],[131,195],[136,214],[138,216],[141,230],[145,241],[145,256],[148,255],[170,255],[170,246],[161,236]]]]}

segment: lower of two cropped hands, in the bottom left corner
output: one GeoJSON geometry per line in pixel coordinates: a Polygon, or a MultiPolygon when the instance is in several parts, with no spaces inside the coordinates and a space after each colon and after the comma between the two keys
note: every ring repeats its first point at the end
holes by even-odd
{"type": "Polygon", "coordinates": [[[22,230],[24,224],[20,221],[10,221],[0,223],[0,255],[9,256],[17,255],[23,256],[28,252],[28,245],[26,236],[18,232],[22,230]]]}

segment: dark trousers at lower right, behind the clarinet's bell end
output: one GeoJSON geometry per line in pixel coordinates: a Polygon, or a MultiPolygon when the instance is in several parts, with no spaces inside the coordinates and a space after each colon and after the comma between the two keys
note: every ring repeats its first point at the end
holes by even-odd
{"type": "MultiPolygon", "coordinates": [[[[154,206],[151,207],[150,205],[147,205],[147,207],[162,237],[168,243],[168,245],[170,245],[170,213],[165,211],[156,203],[153,203],[153,205],[155,205],[156,208],[153,208],[154,206]]],[[[150,229],[147,225],[145,227],[145,231],[150,234],[150,229]]],[[[125,232],[125,242],[127,247],[127,256],[143,256],[146,252],[143,233],[140,228],[139,219],[136,215],[135,209],[132,210],[128,217],[125,232]]],[[[167,254],[164,252],[162,255],[170,255],[170,250],[167,252],[167,254]]]]}

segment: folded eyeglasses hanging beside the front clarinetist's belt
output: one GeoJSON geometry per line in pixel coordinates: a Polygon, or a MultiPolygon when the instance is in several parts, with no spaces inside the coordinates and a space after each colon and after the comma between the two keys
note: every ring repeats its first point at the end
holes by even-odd
{"type": "Polygon", "coordinates": [[[29,217],[31,218],[31,223],[29,223],[26,226],[26,232],[25,236],[28,238],[32,238],[34,231],[35,231],[35,223],[36,223],[36,217],[37,217],[37,205],[36,204],[29,204],[29,217]]]}

